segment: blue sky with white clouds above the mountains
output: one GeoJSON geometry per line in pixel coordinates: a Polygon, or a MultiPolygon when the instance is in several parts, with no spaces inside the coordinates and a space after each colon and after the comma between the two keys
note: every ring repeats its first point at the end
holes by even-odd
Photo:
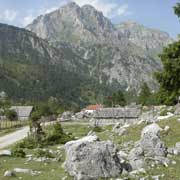
{"type": "MultiPolygon", "coordinates": [[[[0,0],[0,22],[25,27],[37,16],[54,11],[71,0],[0,0]]],[[[102,11],[114,24],[127,20],[180,34],[180,20],[173,6],[180,0],[74,0],[79,6],[90,4],[102,11]]]]}

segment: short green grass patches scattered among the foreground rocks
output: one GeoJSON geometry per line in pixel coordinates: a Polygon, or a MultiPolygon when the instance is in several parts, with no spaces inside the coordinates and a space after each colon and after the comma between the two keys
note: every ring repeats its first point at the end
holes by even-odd
{"type": "MultiPolygon", "coordinates": [[[[170,126],[171,130],[168,134],[162,134],[162,140],[165,142],[167,147],[174,146],[176,142],[180,142],[180,122],[177,121],[176,118],[171,118],[168,120],[163,120],[158,123],[162,128],[166,125],[170,126]]],[[[100,132],[96,132],[98,137],[103,140],[112,140],[117,147],[120,147],[123,142],[128,141],[138,141],[140,139],[141,131],[147,124],[142,123],[140,125],[134,125],[127,128],[127,134],[124,136],[118,136],[117,134],[112,132],[112,126],[103,127],[100,132]]],[[[89,131],[92,130],[91,127],[87,124],[62,124],[64,131],[67,133],[72,133],[74,137],[84,137],[87,135],[89,131]]],[[[51,128],[51,127],[48,127],[51,128]]],[[[57,146],[49,146],[48,149],[56,150],[57,146]]],[[[27,154],[32,154],[33,150],[25,150],[27,154]]],[[[1,180],[9,180],[9,179],[22,179],[25,180],[58,180],[64,176],[67,176],[67,180],[73,180],[72,177],[68,176],[68,174],[62,168],[62,164],[65,160],[65,152],[62,151],[63,158],[60,162],[51,162],[49,164],[39,163],[39,162],[26,162],[26,159],[23,158],[11,158],[11,157],[0,157],[0,179],[1,180]],[[6,170],[11,170],[13,168],[30,168],[37,171],[42,171],[42,174],[39,176],[32,177],[31,175],[17,174],[18,176],[15,178],[5,178],[3,174],[6,170]]],[[[177,180],[180,177],[180,156],[174,156],[171,160],[175,160],[177,162],[176,165],[170,164],[168,168],[163,166],[157,166],[154,169],[147,170],[147,174],[143,176],[152,176],[152,175],[162,175],[165,174],[163,180],[177,180]]],[[[132,178],[131,178],[132,180],[132,178]]]]}

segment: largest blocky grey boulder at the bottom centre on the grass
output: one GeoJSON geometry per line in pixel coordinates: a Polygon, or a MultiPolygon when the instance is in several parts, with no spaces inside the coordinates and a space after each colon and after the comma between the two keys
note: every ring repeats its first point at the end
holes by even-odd
{"type": "Polygon", "coordinates": [[[101,142],[96,135],[70,141],[65,150],[65,169],[76,180],[117,177],[122,172],[114,144],[101,142]]]}

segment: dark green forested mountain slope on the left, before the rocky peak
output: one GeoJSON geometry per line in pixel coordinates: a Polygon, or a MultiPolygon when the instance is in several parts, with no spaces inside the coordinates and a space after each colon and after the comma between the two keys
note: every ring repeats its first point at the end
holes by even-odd
{"type": "Polygon", "coordinates": [[[66,105],[83,105],[87,93],[103,94],[106,88],[88,76],[80,59],[68,47],[56,49],[30,31],[0,24],[0,91],[13,99],[53,96],[66,105]]]}

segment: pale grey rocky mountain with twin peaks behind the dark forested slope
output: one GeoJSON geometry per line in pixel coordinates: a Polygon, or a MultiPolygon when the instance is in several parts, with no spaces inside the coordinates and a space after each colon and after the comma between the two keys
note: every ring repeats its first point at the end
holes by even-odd
{"type": "Polygon", "coordinates": [[[162,69],[158,54],[172,42],[167,33],[134,22],[113,25],[94,7],[75,3],[39,16],[26,28],[58,49],[71,49],[91,78],[113,90],[138,91],[143,82],[156,89],[153,73],[162,69]]]}

